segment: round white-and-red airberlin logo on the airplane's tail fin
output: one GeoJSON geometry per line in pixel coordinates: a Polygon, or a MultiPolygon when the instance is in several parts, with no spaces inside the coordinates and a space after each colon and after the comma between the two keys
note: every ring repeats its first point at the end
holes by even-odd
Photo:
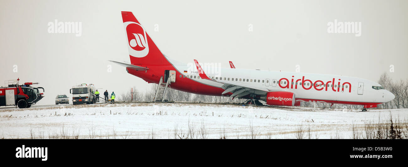
{"type": "Polygon", "coordinates": [[[136,22],[124,22],[126,38],[128,39],[129,55],[142,58],[149,54],[146,31],[136,22]]]}

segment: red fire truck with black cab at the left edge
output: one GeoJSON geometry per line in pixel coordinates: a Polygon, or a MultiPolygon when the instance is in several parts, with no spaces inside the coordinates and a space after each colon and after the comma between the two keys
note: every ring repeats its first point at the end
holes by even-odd
{"type": "Polygon", "coordinates": [[[25,82],[24,85],[19,85],[20,79],[8,80],[4,82],[5,87],[0,87],[0,106],[18,106],[21,108],[29,108],[44,97],[39,89],[42,87],[32,87],[38,82],[25,82]]]}

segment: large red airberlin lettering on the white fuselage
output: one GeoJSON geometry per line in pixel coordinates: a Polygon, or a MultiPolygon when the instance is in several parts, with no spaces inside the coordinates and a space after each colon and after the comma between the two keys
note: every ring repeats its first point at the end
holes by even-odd
{"type": "MultiPolygon", "coordinates": [[[[327,89],[330,89],[327,85],[331,85],[330,87],[331,87],[331,89],[333,90],[333,91],[340,91],[340,80],[341,79],[338,79],[338,82],[337,82],[337,84],[335,83],[335,78],[333,78],[333,80],[331,80],[331,81],[327,81],[327,82],[323,82],[322,80],[317,80],[317,81],[315,81],[315,82],[313,82],[313,81],[311,81],[311,80],[308,80],[308,79],[306,79],[305,80],[305,76],[302,76],[302,79],[297,79],[296,81],[294,81],[293,80],[293,77],[295,77],[295,76],[292,76],[292,80],[291,80],[291,82],[289,82],[289,80],[287,79],[287,78],[281,78],[279,81],[278,81],[278,84],[279,84],[279,87],[281,87],[281,88],[290,88],[290,89],[297,89],[297,82],[299,82],[299,87],[300,86],[302,86],[302,88],[303,89],[306,89],[306,90],[309,90],[309,89],[312,89],[312,87],[313,88],[315,88],[317,91],[321,91],[321,90],[325,90],[325,91],[327,91],[327,89]],[[282,80],[285,80],[286,81],[286,85],[284,85],[284,84],[281,84],[281,81],[282,80]],[[293,83],[293,84],[291,84],[291,83],[293,83]],[[300,84],[300,83],[302,83],[302,84],[300,84]],[[306,84],[304,84],[304,83],[310,83],[309,85],[306,85],[306,84]],[[290,86],[289,86],[290,85],[290,86]],[[295,88],[293,88],[293,86],[295,85],[295,88]],[[334,85],[337,85],[337,87],[334,87],[334,85]]],[[[348,87],[346,88],[346,91],[347,91],[347,89],[348,89],[348,92],[351,92],[351,84],[349,83],[349,82],[344,82],[343,84],[341,84],[341,92],[343,92],[344,91],[344,87],[345,87],[345,85],[348,85],[348,87]]]]}

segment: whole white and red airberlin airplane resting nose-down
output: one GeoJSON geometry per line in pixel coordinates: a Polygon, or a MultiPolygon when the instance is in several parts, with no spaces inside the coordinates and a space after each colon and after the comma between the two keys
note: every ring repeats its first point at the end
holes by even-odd
{"type": "MultiPolygon", "coordinates": [[[[267,105],[299,106],[300,102],[363,105],[366,108],[395,98],[376,82],[348,76],[219,68],[205,73],[197,60],[194,65],[165,56],[155,45],[132,12],[122,11],[130,64],[115,62],[146,82],[160,82],[162,76],[175,74],[171,88],[193,94],[229,96],[263,100],[267,105]],[[195,68],[194,68],[195,69],[195,68]]],[[[234,68],[232,68],[234,67],[234,68]]]]}

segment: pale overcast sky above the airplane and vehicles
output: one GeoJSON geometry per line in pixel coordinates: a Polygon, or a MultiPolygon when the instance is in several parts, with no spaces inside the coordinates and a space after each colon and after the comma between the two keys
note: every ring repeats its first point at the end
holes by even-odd
{"type": "MultiPolygon", "coordinates": [[[[408,1],[0,1],[0,81],[40,82],[53,104],[73,85],[117,96],[149,87],[128,61],[120,11],[132,11],[160,50],[178,60],[237,68],[325,73],[377,81],[408,78],[408,1]],[[48,33],[48,22],[82,22],[82,36],[48,33]],[[361,36],[328,33],[328,22],[361,22],[361,36]],[[159,31],[154,31],[158,24],[159,31]],[[253,24],[253,31],[248,31],[253,24]],[[13,72],[13,65],[18,72],[13,72]],[[395,72],[391,73],[390,65],[395,72]]],[[[2,84],[2,86],[4,86],[2,84]]]]}

